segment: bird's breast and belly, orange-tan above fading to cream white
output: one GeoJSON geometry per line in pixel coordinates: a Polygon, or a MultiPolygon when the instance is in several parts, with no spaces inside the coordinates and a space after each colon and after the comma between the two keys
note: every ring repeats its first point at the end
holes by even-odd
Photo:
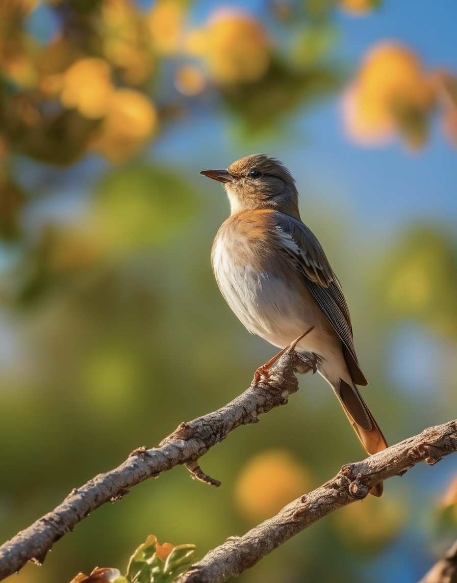
{"type": "Polygon", "coordinates": [[[249,227],[245,220],[235,218],[228,219],[215,238],[215,278],[225,300],[250,332],[285,346],[321,315],[306,286],[275,249],[274,232],[254,224],[249,227]]]}

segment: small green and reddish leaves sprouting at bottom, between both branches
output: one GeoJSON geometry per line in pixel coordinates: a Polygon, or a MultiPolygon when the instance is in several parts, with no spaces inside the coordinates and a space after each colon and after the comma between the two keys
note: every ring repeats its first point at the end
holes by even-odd
{"type": "Polygon", "coordinates": [[[79,573],[71,583],[172,583],[194,561],[195,545],[161,545],[154,535],[130,557],[125,577],[113,568],[95,568],[90,575],[79,573]]]}

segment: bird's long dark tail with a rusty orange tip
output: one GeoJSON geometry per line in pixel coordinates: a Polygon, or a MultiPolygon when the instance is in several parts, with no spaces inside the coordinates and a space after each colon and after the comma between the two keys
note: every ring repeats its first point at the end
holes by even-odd
{"type": "MultiPolygon", "coordinates": [[[[385,437],[362,399],[360,392],[358,392],[357,387],[352,382],[348,384],[342,378],[339,378],[338,382],[332,383],[332,387],[368,454],[377,454],[378,451],[386,449],[388,445],[385,437]]],[[[376,484],[370,493],[374,494],[374,496],[381,496],[382,490],[381,482],[376,484]]]]}

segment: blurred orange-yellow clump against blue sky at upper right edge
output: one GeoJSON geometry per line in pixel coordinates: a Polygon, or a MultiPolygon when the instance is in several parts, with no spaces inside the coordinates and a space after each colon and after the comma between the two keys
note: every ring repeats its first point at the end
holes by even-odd
{"type": "Polygon", "coordinates": [[[431,114],[440,104],[445,131],[455,140],[457,101],[450,87],[455,83],[455,76],[448,73],[425,73],[410,48],[392,41],[380,43],[365,56],[346,92],[343,111],[348,135],[376,145],[398,133],[410,147],[423,146],[431,114]]]}

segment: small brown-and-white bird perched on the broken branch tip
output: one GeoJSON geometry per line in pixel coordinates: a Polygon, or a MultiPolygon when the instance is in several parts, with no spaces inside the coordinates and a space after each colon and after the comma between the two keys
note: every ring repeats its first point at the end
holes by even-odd
{"type": "MultiPolygon", "coordinates": [[[[274,346],[284,349],[298,339],[298,372],[312,367],[325,378],[368,454],[388,447],[356,387],[368,381],[347,303],[322,246],[301,220],[291,173],[272,156],[251,154],[226,170],[200,174],[222,182],[230,203],[211,252],[229,307],[250,333],[274,346]]],[[[381,482],[371,494],[382,491],[381,482]]]]}

